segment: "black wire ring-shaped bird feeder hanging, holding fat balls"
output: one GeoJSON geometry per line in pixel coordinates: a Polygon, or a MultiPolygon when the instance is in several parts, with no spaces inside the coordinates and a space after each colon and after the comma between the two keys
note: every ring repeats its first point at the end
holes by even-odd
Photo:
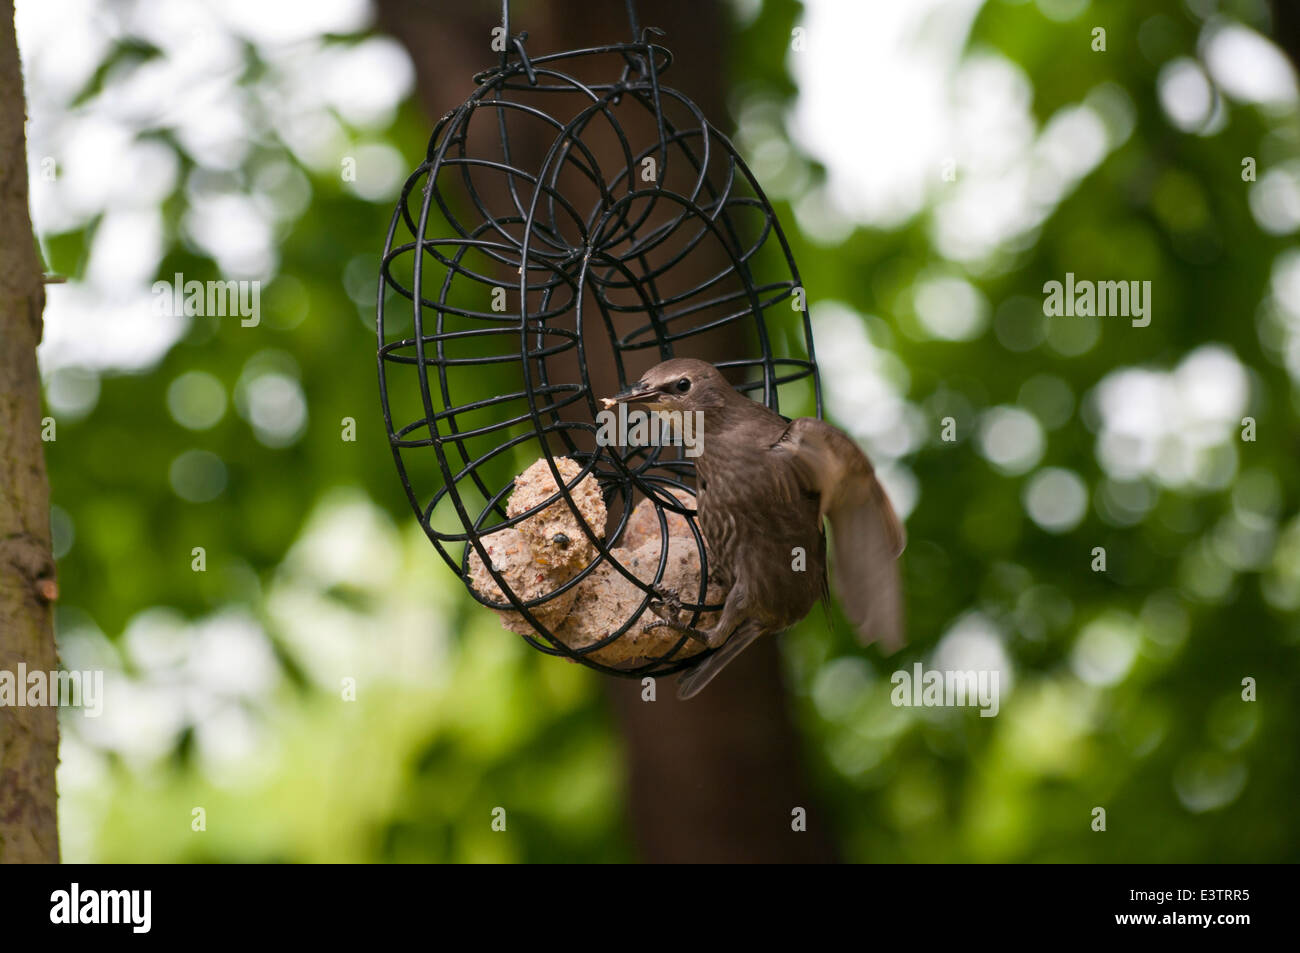
{"type": "Polygon", "coordinates": [[[384,419],[421,527],[480,603],[517,614],[526,625],[516,631],[543,653],[611,675],[667,675],[706,653],[690,644],[689,655],[688,637],[673,633],[653,657],[601,659],[653,618],[670,520],[685,520],[698,558],[698,588],[680,593],[682,621],[719,608],[720,598],[706,599],[694,462],[681,447],[597,441],[598,402],[659,360],[712,356],[771,410],[794,385],[820,416],[798,270],[731,142],[662,83],[672,55],[630,0],[630,42],[540,56],[525,51],[526,34],[510,33],[503,7],[499,65],[437,124],[389,226],[377,302],[384,419]],[[719,332],[740,351],[728,360],[699,347],[719,332]],[[529,454],[555,489],[511,515],[529,454]],[[562,458],[580,469],[567,464],[567,476],[562,458]],[[577,488],[593,476],[608,517],[577,520],[590,559],[545,592],[515,592],[489,553],[494,534],[550,506],[578,515],[577,488]],[[653,575],[633,572],[619,550],[637,502],[653,507],[660,537],[653,575]],[[476,555],[502,598],[471,584],[476,555]],[[634,586],[636,606],[573,646],[540,616],[598,571],[634,586]]]}

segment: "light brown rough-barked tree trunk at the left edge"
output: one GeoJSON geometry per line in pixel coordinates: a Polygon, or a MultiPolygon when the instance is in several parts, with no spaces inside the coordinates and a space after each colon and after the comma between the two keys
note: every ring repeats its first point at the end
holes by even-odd
{"type": "MultiPolygon", "coordinates": [[[[12,0],[0,0],[0,672],[58,668],[40,423],[44,285],[27,212],[26,111],[12,0]]],[[[0,862],[57,863],[55,706],[0,707],[0,862]]]]}

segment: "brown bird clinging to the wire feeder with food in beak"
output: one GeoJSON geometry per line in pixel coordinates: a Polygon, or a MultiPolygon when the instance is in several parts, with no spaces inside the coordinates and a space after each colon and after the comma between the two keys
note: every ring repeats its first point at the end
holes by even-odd
{"type": "Polygon", "coordinates": [[[707,361],[673,358],[612,398],[696,417],[696,512],[710,576],[727,597],[718,621],[677,621],[675,592],[660,593],[658,621],[703,642],[711,654],[686,670],[679,698],[698,694],[759,636],[802,620],[828,601],[827,541],[845,615],[862,642],[896,651],[904,644],[898,558],[906,530],[866,454],[816,417],[789,420],[745,397],[707,361]]]}

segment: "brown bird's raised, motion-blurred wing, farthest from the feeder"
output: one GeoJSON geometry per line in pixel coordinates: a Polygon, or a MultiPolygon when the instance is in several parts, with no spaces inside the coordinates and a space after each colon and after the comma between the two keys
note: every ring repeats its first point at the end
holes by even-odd
{"type": "MultiPolygon", "coordinates": [[[[788,462],[786,486],[816,493],[835,541],[835,588],[863,644],[904,644],[898,555],[902,523],[858,445],[814,417],[790,421],[772,446],[788,462]]],[[[786,491],[790,491],[789,489],[786,491]]]]}

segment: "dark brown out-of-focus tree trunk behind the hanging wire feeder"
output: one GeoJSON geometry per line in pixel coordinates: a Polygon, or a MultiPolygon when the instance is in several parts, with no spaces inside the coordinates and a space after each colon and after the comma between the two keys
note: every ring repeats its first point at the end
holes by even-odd
{"type": "MultiPolygon", "coordinates": [[[[692,96],[707,117],[725,126],[722,52],[727,23],[722,4],[658,0],[640,7],[641,23],[666,30],[659,42],[676,57],[664,82],[692,96]]],[[[500,4],[494,0],[438,7],[422,0],[378,0],[378,10],[381,26],[410,51],[420,96],[432,116],[459,105],[473,90],[471,77],[497,62],[489,48],[490,31],[500,20],[500,4]]],[[[516,1],[511,4],[511,18],[512,34],[529,34],[526,48],[533,55],[630,38],[625,7],[619,0],[516,1]]],[[[549,144],[512,143],[517,159],[536,157],[549,144]]],[[[671,295],[716,270],[719,263],[710,261],[708,255],[706,251],[685,268],[673,269],[659,287],[660,294],[671,295]]],[[[696,341],[692,356],[736,358],[750,343],[729,333],[707,337],[696,341]]],[[[604,354],[606,348],[590,352],[604,354]]],[[[650,358],[646,365],[654,360],[650,358]]],[[[598,394],[614,393],[612,361],[599,361],[589,372],[598,394]]],[[[604,684],[623,725],[632,828],[644,859],[836,859],[803,781],[800,736],[790,719],[775,637],[757,641],[690,702],[679,702],[671,683],[659,685],[655,702],[641,701],[640,681],[607,677],[604,684]],[[793,829],[796,809],[806,811],[806,831],[793,829]]]]}

